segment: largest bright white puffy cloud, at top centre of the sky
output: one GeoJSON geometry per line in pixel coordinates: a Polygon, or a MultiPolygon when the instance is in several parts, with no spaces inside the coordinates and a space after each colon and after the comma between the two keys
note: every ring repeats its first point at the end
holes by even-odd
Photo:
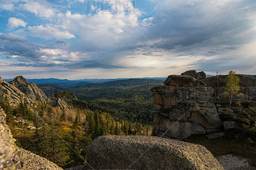
{"type": "Polygon", "coordinates": [[[99,10],[96,14],[59,13],[58,20],[69,32],[78,34],[88,48],[113,49],[134,36],[139,26],[141,12],[130,1],[106,1],[111,10],[99,10]]]}

